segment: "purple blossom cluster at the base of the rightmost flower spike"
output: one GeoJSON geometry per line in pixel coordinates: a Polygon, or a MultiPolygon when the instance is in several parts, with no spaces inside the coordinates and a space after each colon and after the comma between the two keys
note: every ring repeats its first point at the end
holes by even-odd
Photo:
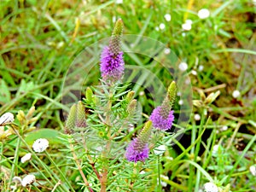
{"type": "Polygon", "coordinates": [[[170,110],[168,115],[165,117],[165,115],[163,115],[163,110],[162,106],[155,108],[149,119],[152,121],[154,128],[166,131],[171,129],[174,115],[173,111],[170,110]]]}

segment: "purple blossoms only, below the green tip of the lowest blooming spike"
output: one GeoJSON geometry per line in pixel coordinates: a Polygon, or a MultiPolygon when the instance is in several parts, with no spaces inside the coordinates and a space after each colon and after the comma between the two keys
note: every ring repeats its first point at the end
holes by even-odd
{"type": "Polygon", "coordinates": [[[145,161],[148,158],[149,148],[148,143],[141,148],[141,143],[136,139],[132,140],[126,149],[126,159],[129,161],[145,161]]]}

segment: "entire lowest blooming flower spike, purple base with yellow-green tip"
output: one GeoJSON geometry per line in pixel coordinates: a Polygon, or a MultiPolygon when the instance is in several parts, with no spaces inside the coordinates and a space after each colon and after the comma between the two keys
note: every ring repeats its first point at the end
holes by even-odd
{"type": "Polygon", "coordinates": [[[148,140],[151,135],[152,122],[149,120],[137,138],[133,139],[126,148],[126,159],[129,161],[145,161],[148,158],[148,140]]]}

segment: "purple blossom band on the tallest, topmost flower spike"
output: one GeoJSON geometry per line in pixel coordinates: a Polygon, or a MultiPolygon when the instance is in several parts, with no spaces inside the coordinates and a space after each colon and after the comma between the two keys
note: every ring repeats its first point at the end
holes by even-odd
{"type": "Polygon", "coordinates": [[[119,80],[125,71],[123,52],[114,54],[109,47],[105,47],[101,55],[101,73],[104,80],[119,80]]]}

